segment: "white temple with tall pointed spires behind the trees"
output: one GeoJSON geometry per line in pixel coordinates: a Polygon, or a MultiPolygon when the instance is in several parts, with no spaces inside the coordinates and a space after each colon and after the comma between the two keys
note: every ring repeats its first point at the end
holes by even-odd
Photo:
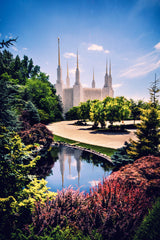
{"type": "Polygon", "coordinates": [[[94,79],[92,80],[92,88],[84,88],[81,85],[80,81],[80,71],[79,71],[79,62],[78,62],[78,51],[77,51],[77,68],[75,71],[75,83],[73,87],[70,87],[69,71],[67,65],[67,78],[66,84],[62,80],[62,69],[60,63],[60,43],[58,38],[58,68],[57,68],[57,81],[55,84],[57,95],[60,95],[64,113],[66,113],[73,106],[78,106],[80,102],[86,102],[87,100],[103,100],[105,97],[113,97],[114,92],[112,88],[112,75],[111,75],[111,62],[109,65],[109,74],[108,74],[108,65],[106,63],[106,73],[104,77],[104,86],[103,88],[96,88],[96,83],[94,79]]]}

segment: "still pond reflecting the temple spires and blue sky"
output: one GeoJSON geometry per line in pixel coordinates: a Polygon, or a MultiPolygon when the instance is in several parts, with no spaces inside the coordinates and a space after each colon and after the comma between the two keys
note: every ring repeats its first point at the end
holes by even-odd
{"type": "Polygon", "coordinates": [[[51,191],[69,186],[80,188],[80,191],[89,191],[90,187],[112,172],[112,166],[106,159],[63,145],[52,148],[48,162],[49,166],[45,161],[39,168],[38,175],[45,177],[51,191]]]}

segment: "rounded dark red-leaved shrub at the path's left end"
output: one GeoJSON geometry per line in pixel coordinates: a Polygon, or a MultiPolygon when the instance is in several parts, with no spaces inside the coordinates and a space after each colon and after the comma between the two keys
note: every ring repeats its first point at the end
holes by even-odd
{"type": "Polygon", "coordinates": [[[49,147],[53,142],[53,134],[48,128],[42,124],[34,124],[30,129],[19,133],[24,144],[38,143],[44,147],[49,147]]]}

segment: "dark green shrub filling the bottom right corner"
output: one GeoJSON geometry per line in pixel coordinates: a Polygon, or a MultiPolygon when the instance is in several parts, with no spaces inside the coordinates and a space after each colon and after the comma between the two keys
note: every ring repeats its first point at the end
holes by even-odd
{"type": "Polygon", "coordinates": [[[160,198],[138,228],[133,240],[160,239],[160,198]]]}

